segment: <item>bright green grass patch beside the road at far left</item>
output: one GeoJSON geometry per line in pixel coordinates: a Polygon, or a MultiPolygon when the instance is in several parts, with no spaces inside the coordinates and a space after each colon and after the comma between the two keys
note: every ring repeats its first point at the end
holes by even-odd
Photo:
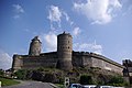
{"type": "Polygon", "coordinates": [[[8,79],[8,78],[0,78],[0,81],[1,81],[2,86],[11,86],[11,85],[20,84],[20,81],[16,81],[13,79],[8,79]]]}

